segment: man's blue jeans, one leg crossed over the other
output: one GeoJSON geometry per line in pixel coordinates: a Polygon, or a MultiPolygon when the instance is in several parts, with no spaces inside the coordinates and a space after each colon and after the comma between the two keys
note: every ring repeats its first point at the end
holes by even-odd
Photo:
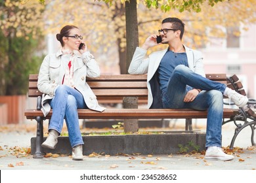
{"type": "Polygon", "coordinates": [[[194,73],[184,65],[175,67],[169,78],[167,89],[162,93],[164,108],[193,108],[207,111],[206,147],[221,147],[221,125],[223,120],[224,84],[214,82],[194,73]],[[192,88],[203,90],[192,102],[183,101],[192,88]]]}

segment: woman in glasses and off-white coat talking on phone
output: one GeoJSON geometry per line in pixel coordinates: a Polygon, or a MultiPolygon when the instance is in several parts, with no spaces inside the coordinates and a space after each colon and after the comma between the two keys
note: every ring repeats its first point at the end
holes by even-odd
{"type": "Polygon", "coordinates": [[[42,146],[54,149],[63,127],[64,119],[72,146],[72,159],[83,159],[83,139],[79,129],[77,108],[90,108],[102,112],[96,96],[86,82],[86,77],[100,76],[100,68],[87,44],[74,25],[64,26],[56,35],[62,48],[48,54],[40,67],[37,87],[43,94],[42,111],[45,116],[53,108],[49,136],[42,146]],[[83,46],[79,49],[79,45],[83,46]]]}

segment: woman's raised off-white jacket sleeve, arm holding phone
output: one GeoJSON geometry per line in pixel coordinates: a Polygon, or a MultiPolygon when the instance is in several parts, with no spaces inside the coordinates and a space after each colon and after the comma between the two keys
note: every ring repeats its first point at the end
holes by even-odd
{"type": "Polygon", "coordinates": [[[96,78],[100,76],[100,67],[95,60],[95,57],[90,52],[85,52],[82,55],[83,63],[87,66],[87,77],[96,78]]]}

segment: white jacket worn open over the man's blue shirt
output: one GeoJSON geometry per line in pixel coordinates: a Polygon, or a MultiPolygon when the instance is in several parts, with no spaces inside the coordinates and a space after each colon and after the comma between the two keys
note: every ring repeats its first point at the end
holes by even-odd
{"type": "MultiPolygon", "coordinates": [[[[188,48],[186,46],[184,46],[184,48],[186,50],[186,56],[188,58],[188,67],[195,73],[205,77],[205,73],[203,70],[202,53],[196,50],[192,50],[191,48],[188,48]]],[[[131,75],[148,74],[148,108],[160,108],[159,105],[156,104],[158,103],[156,101],[157,99],[161,101],[161,99],[159,98],[160,88],[159,85],[155,84],[155,82],[152,82],[152,80],[158,80],[158,78],[156,78],[156,73],[158,73],[158,67],[160,65],[161,59],[167,52],[167,49],[168,48],[158,52],[153,52],[147,57],[147,50],[137,47],[128,69],[128,73],[131,75]]]]}

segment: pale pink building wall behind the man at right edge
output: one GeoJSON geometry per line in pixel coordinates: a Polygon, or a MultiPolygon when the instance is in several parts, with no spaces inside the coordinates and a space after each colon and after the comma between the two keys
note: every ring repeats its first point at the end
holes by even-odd
{"type": "Polygon", "coordinates": [[[226,41],[218,39],[201,51],[205,73],[236,74],[242,80],[247,95],[256,98],[256,25],[242,31],[240,48],[226,48],[226,41]],[[232,72],[228,66],[239,66],[240,69],[232,72]]]}

